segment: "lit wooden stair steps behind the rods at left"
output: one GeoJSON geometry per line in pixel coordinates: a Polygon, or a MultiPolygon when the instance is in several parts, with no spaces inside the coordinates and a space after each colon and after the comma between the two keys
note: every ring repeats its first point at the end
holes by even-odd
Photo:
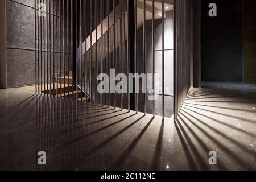
{"type": "Polygon", "coordinates": [[[84,93],[82,93],[81,95],[82,91],[80,88],[76,90],[76,86],[72,85],[72,77],[69,77],[69,79],[68,79],[68,76],[55,77],[54,81],[55,81],[55,84],[53,83],[49,84],[48,90],[42,93],[59,96],[60,98],[65,98],[66,100],[68,100],[68,98],[69,100],[71,100],[73,96],[74,100],[78,98],[78,101],[87,100],[87,102],[90,102],[90,98],[86,98],[84,93]],[[64,85],[64,81],[65,81],[65,85],[64,85]],[[54,85],[54,89],[53,89],[53,85],[54,85]],[[72,88],[73,88],[73,92],[72,92],[72,88]]]}

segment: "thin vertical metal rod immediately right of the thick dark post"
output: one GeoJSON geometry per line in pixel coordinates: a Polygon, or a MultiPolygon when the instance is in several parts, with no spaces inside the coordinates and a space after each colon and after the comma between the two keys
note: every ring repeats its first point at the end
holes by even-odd
{"type": "MultiPolygon", "coordinates": [[[[137,0],[135,0],[135,41],[134,41],[134,71],[135,73],[138,73],[137,71],[137,0]]],[[[137,79],[135,79],[135,88],[137,87],[137,79]]],[[[136,114],[138,114],[138,93],[137,89],[135,89],[135,109],[136,114]]]]}

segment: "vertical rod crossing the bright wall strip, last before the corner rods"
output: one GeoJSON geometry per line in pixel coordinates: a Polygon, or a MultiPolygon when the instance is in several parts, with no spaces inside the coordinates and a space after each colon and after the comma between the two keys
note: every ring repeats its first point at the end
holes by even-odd
{"type": "Polygon", "coordinates": [[[164,119],[164,0],[162,0],[162,108],[164,119]]]}

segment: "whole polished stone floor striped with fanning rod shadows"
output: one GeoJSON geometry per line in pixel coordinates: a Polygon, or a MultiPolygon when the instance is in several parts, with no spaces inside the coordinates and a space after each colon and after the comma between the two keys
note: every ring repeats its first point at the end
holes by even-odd
{"type": "Polygon", "coordinates": [[[175,122],[22,89],[0,90],[0,106],[0,169],[256,169],[256,96],[239,90],[192,88],[175,122]]]}

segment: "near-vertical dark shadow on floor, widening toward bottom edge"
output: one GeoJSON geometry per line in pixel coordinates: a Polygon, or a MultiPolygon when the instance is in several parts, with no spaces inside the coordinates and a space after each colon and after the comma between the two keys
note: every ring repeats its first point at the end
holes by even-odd
{"type": "Polygon", "coordinates": [[[163,133],[164,133],[164,119],[162,119],[162,123],[160,126],[160,130],[158,134],[158,142],[156,143],[155,154],[154,154],[151,170],[160,169],[160,161],[162,158],[163,133]]]}

